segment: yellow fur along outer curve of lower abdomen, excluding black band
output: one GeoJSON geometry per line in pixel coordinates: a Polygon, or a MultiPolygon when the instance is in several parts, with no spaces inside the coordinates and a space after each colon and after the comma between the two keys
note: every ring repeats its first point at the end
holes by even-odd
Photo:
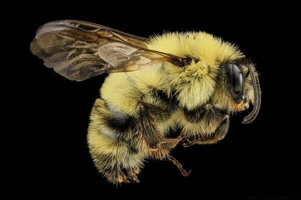
{"type": "Polygon", "coordinates": [[[105,125],[105,117],[108,116],[112,116],[112,112],[107,109],[103,100],[96,99],[90,117],[88,144],[95,166],[109,181],[116,183],[123,181],[116,178],[120,177],[120,169],[139,172],[139,168],[143,166],[144,154],[134,152],[125,139],[117,137],[122,133],[105,125]]]}

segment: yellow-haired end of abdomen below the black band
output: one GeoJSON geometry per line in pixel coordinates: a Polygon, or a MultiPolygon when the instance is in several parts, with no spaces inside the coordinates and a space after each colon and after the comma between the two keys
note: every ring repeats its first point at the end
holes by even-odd
{"type": "Polygon", "coordinates": [[[136,171],[143,167],[144,155],[131,145],[97,130],[93,122],[89,125],[88,144],[94,164],[112,183],[124,181],[122,171],[136,171]]]}

